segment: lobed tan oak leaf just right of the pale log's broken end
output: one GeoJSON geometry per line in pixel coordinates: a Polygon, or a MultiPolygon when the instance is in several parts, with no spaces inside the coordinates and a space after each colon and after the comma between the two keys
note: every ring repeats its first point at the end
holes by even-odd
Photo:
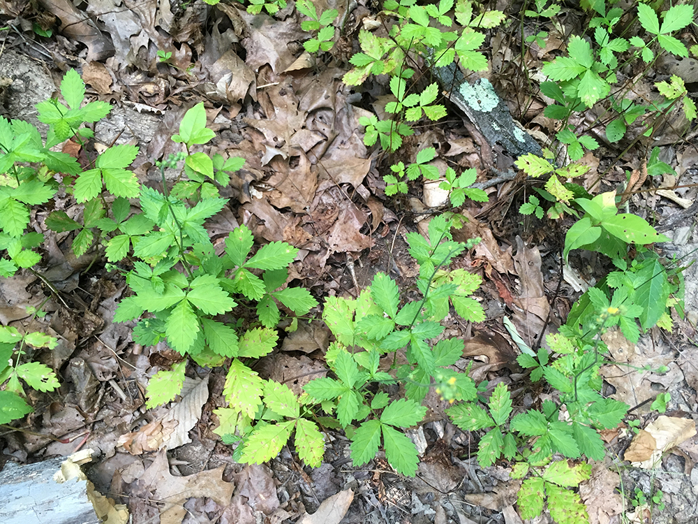
{"type": "Polygon", "coordinates": [[[137,490],[149,500],[163,504],[161,524],[181,524],[186,516],[184,502],[190,498],[209,497],[222,507],[228,506],[234,485],[221,479],[225,467],[189,476],[172,476],[167,451],[159,451],[155,460],[138,480],[137,490]]]}

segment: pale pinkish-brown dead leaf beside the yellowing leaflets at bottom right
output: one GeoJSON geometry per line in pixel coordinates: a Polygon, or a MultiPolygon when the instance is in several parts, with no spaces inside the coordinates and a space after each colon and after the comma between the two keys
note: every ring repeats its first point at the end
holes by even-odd
{"type": "Polygon", "coordinates": [[[623,512],[623,500],[616,493],[621,477],[604,463],[593,462],[591,477],[579,484],[579,495],[586,505],[589,524],[610,524],[611,517],[623,512]]]}

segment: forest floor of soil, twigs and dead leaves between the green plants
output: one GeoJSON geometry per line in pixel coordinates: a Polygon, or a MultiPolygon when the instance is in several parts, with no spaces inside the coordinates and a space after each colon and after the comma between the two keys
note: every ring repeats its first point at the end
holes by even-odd
{"type": "MultiPolygon", "coordinates": [[[[204,101],[209,126],[216,131],[204,151],[246,161],[239,176],[221,189],[221,196],[230,198],[228,205],[207,223],[214,244],[246,224],[259,242],[285,241],[299,248],[292,275],[320,303],[327,296],[356,297],[378,271],[408,289],[418,268],[407,254],[405,235],[423,232],[429,217],[445,208],[431,205],[430,189],[420,180],[406,195],[385,195],[383,175],[398,159],[366,147],[358,120],[383,111],[389,88],[380,77],[372,77],[361,89],[350,89],[342,81],[350,68],[348,58],[357,51],[359,28],[376,9],[364,0],[357,5],[325,3],[325,8],[339,10],[340,19],[347,4],[352,10],[332,52],[316,57],[303,52],[307,34],[292,2],[271,17],[250,15],[235,2],[207,6],[172,1],[168,6],[168,1],[156,0],[87,0],[76,9],[60,0],[43,1],[40,8],[22,0],[2,1],[0,14],[8,29],[0,49],[1,109],[6,117],[43,126],[34,104],[54,96],[64,73],[76,68],[89,99],[114,105],[96,126],[96,143],[138,145],[135,173],[142,182],[155,184],[155,161],[179,151],[181,146],[170,138],[184,112],[204,101]],[[61,27],[54,15],[61,17],[61,27]],[[101,34],[84,22],[89,16],[101,21],[101,34]],[[38,36],[32,24],[52,27],[54,33],[38,36]],[[108,51],[110,43],[113,52],[108,51]],[[172,52],[166,63],[158,61],[158,50],[172,52]]],[[[589,15],[579,6],[566,7],[556,24],[548,21],[544,26],[549,31],[545,47],[533,43],[522,51],[520,31],[528,36],[537,27],[530,20],[530,27],[519,25],[519,3],[500,0],[492,8],[503,10],[513,23],[487,31],[483,49],[489,71],[482,76],[507,101],[515,119],[539,141],[548,140],[554,129],[542,115],[547,102],[529,87],[528,79],[535,78],[544,61],[565,50],[567,36],[584,33],[589,15]]],[[[695,44],[692,30],[683,38],[695,44]]],[[[653,82],[680,68],[695,96],[696,64],[695,59],[658,61],[636,92],[651,96],[653,82]]],[[[401,159],[411,161],[429,145],[436,147],[438,167],[475,168],[479,182],[512,170],[515,158],[499,145],[488,145],[458,108],[443,103],[447,117],[419,126],[415,136],[405,139],[401,159]]],[[[609,143],[602,130],[593,131],[601,147],[584,155],[582,162],[591,171],[580,183],[594,194],[611,191],[625,183],[626,170],[640,168],[649,148],[659,147],[660,159],[677,177],[650,177],[644,187],[669,188],[671,195],[639,191],[630,197],[630,209],[672,238],[662,249],[667,256],[683,257],[681,263],[688,266],[698,258],[693,205],[698,142],[688,122],[683,127],[671,124],[678,122],[674,117],[655,132],[651,143],[640,141],[628,151],[630,142],[609,143]],[[594,177],[600,174],[594,189],[594,177]],[[671,189],[677,185],[683,187],[671,189]],[[682,211],[680,203],[690,211],[682,211]]],[[[584,118],[591,122],[593,115],[584,115],[580,122],[584,118]]],[[[560,252],[572,221],[524,217],[519,207],[526,191],[519,176],[489,187],[488,203],[467,201],[459,210],[470,219],[459,232],[461,240],[478,236],[482,242],[456,263],[482,275],[477,296],[487,319],[477,324],[453,321],[447,329],[466,340],[456,367],[464,370],[472,364],[476,381],[489,380],[490,388],[504,382],[514,392],[515,404],[530,406],[546,393],[524,384],[515,360],[517,344],[503,319],[510,318],[533,346],[543,329],[554,331],[564,323],[574,300],[607,267],[600,257],[577,252],[563,277],[560,252]],[[529,307],[541,303],[551,311],[549,318],[529,307]]],[[[200,381],[183,394],[180,412],[173,414],[177,402],[145,409],[149,377],[168,369],[177,354],[163,342],[154,347],[135,344],[134,323],[112,323],[126,289],[124,279],[108,272],[104,260],[88,266],[75,259],[70,233],[57,235],[45,228],[49,211],[39,209],[31,217],[31,227],[51,239],[40,270],[0,279],[0,321],[59,339],[56,349],[36,358],[57,371],[61,388],[33,393],[34,413],[14,423],[15,430],[0,428],[0,463],[34,463],[93,449],[89,478],[98,491],[126,504],[135,524],[521,523],[515,509],[519,481],[510,478],[510,465],[480,467],[475,436],[450,423],[444,414],[447,403],[433,393],[425,401],[426,421],[408,430],[420,453],[414,478],[396,474],[383,458],[352,467],[349,441],[341,432],[329,432],[325,458],[315,469],[299,463],[288,447],[268,465],[235,463],[230,446],[213,432],[218,421],[212,412],[224,405],[224,368],[195,369],[200,381]],[[28,313],[27,307],[41,304],[46,316],[28,313]],[[173,416],[191,421],[186,427],[180,424],[177,446],[163,425],[173,416]],[[323,501],[327,503],[321,507],[323,501]]],[[[644,402],[664,392],[671,393],[667,415],[698,419],[698,347],[692,343],[698,318],[695,265],[685,271],[685,281],[688,320],[676,321],[673,333],[653,328],[637,346],[624,345],[624,339],[609,342],[616,344],[618,354],[630,355],[631,367],[604,368],[604,393],[637,407],[631,414],[640,427],[652,420],[644,402]],[[667,365],[669,371],[659,374],[644,369],[646,365],[667,365]]],[[[280,336],[278,349],[254,369],[300,393],[309,380],[327,372],[322,355],[331,335],[321,321],[313,321],[294,333],[280,330],[280,336]]],[[[593,464],[592,478],[580,489],[591,523],[644,523],[648,516],[656,523],[695,523],[695,439],[667,453],[651,471],[623,462],[630,439],[628,428],[609,432],[609,458],[593,464]],[[631,502],[636,486],[646,494],[661,490],[665,508],[639,511],[631,502]]]]}

